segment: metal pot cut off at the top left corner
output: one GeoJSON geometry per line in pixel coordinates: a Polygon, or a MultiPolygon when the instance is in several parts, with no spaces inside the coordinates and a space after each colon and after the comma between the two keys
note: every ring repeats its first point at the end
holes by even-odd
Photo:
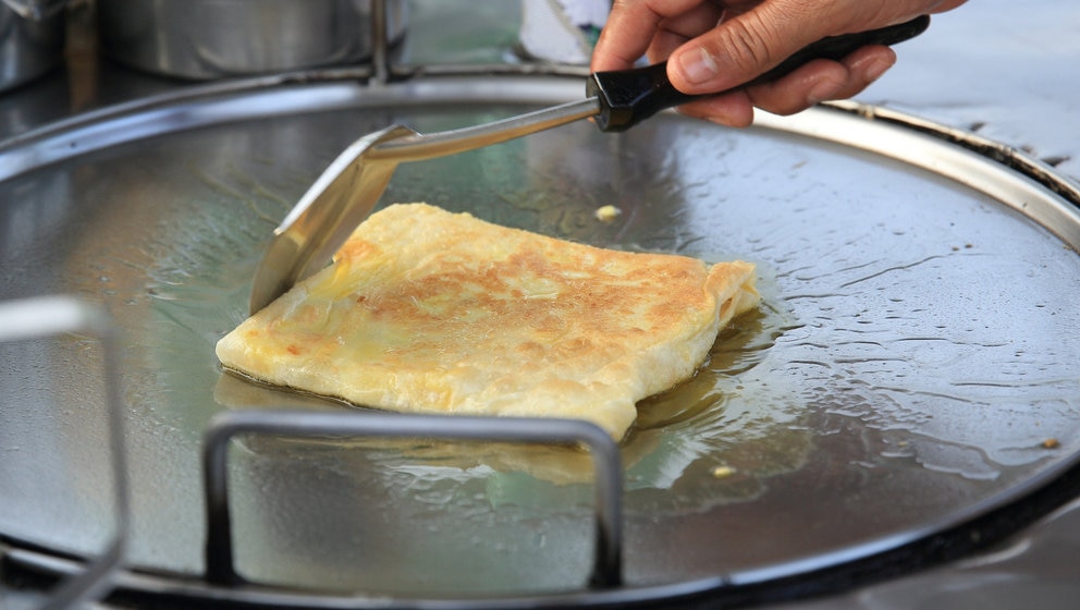
{"type": "Polygon", "coordinates": [[[0,0],[0,90],[60,64],[66,4],[68,0],[0,0]]]}

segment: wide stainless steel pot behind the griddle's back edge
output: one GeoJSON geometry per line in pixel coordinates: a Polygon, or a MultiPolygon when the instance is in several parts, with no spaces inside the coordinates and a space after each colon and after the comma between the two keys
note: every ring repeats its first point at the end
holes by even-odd
{"type": "MultiPolygon", "coordinates": [[[[101,49],[128,65],[218,78],[371,57],[372,0],[98,0],[101,49]]],[[[406,2],[386,1],[390,40],[406,2]]]]}

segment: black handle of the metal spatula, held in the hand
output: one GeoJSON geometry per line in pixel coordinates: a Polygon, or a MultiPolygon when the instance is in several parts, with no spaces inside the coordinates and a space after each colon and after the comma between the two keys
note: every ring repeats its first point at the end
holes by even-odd
{"type": "MultiPolygon", "coordinates": [[[[930,17],[922,15],[880,29],[822,38],[736,88],[775,81],[814,59],[840,60],[868,45],[903,42],[922,34],[929,26],[930,17]]],[[[586,84],[586,96],[600,99],[600,114],[596,117],[596,122],[602,132],[626,131],[665,108],[714,95],[719,94],[688,95],[676,89],[667,80],[667,62],[633,70],[594,72],[586,84]]]]}

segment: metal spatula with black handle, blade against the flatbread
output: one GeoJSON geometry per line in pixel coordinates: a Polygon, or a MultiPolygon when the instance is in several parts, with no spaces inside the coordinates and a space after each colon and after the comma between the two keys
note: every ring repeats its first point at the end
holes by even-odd
{"type": "MultiPolygon", "coordinates": [[[[930,17],[814,42],[751,83],[768,82],[814,59],[838,60],[867,45],[895,45],[930,25],[930,17]]],[[[741,86],[747,86],[741,85],[741,86]]],[[[603,132],[621,132],[660,110],[699,96],[678,91],[666,64],[599,72],[586,84],[586,99],[461,130],[420,134],[393,125],[353,143],[316,180],[274,230],[255,273],[250,313],[326,267],[353,230],[367,218],[398,163],[464,152],[579,119],[593,118],[603,132]]]]}

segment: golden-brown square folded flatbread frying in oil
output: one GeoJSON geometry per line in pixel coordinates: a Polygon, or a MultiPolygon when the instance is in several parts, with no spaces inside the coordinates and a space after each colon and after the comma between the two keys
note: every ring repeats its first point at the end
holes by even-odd
{"type": "Polygon", "coordinates": [[[637,401],[692,376],[757,305],[754,279],[749,263],[602,249],[400,204],[217,355],[358,405],[578,418],[621,439],[637,401]]]}

